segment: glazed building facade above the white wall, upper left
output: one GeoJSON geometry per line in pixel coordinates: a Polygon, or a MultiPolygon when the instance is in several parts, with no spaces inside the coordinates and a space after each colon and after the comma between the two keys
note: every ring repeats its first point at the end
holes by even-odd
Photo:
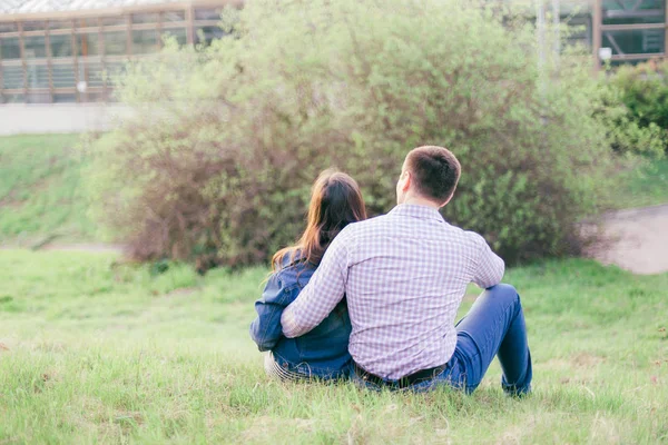
{"type": "Polygon", "coordinates": [[[0,103],[107,102],[164,36],[210,42],[226,0],[0,0],[0,103]]]}

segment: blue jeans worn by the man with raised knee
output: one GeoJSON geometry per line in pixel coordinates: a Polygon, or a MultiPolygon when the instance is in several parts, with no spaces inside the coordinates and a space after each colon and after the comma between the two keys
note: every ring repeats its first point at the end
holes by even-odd
{"type": "MultiPolygon", "coordinates": [[[[524,314],[514,287],[502,284],[483,291],[456,325],[456,348],[445,369],[433,379],[410,386],[410,389],[425,392],[449,385],[472,393],[498,356],[503,370],[503,390],[510,395],[531,390],[531,354],[524,314]]],[[[353,379],[369,388],[381,389],[381,386],[364,382],[356,375],[353,379]]]]}

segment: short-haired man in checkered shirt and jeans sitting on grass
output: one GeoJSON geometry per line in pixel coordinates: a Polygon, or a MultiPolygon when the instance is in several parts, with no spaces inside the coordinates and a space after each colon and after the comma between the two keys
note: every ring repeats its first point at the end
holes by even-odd
{"type": "Polygon", "coordinates": [[[504,264],[478,234],[451,226],[439,209],[461,167],[442,147],[419,147],[404,161],[397,206],[347,226],[281,317],[286,337],[317,326],[346,296],[353,378],[370,387],[474,390],[494,355],[510,395],[530,392],[531,356],[520,298],[500,285],[504,264]],[[455,326],[469,283],[488,288],[455,326]]]}

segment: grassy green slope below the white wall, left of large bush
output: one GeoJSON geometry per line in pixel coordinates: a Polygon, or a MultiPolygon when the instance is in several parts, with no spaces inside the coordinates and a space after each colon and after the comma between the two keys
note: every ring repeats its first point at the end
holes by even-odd
{"type": "Polygon", "coordinates": [[[89,239],[76,135],[0,138],[0,244],[89,239]]]}

